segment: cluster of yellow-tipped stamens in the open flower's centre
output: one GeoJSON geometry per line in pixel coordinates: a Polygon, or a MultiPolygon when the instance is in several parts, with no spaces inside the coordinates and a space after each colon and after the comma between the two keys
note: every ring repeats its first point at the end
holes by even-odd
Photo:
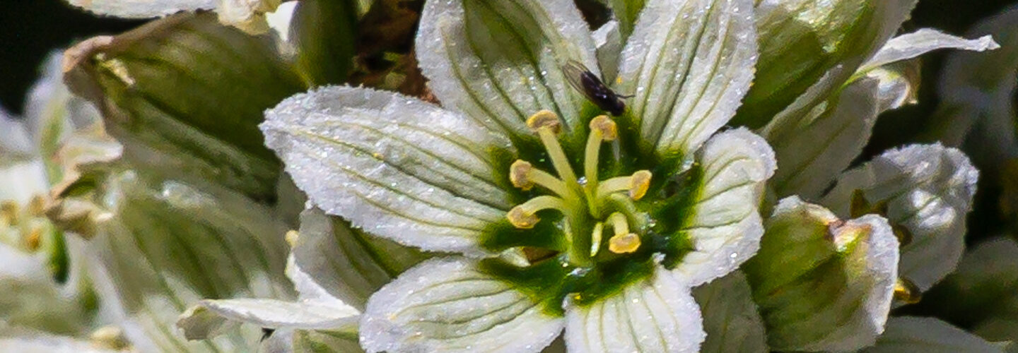
{"type": "Polygon", "coordinates": [[[513,186],[529,190],[534,186],[552,194],[528,199],[506,214],[509,223],[518,229],[533,228],[542,211],[557,211],[563,216],[563,233],[569,244],[567,259],[577,267],[587,267],[603,247],[614,254],[633,253],[641,245],[636,232],[645,227],[646,216],[633,204],[646,194],[651,185],[649,171],[601,180],[598,161],[602,143],[615,140],[615,121],[599,116],[590,121],[583,156],[583,177],[577,178],[558,140],[560,122],[550,111],[540,111],[529,119],[529,126],[541,137],[558,176],[533,168],[529,162],[517,160],[509,170],[513,186]],[[588,225],[591,225],[588,226],[588,225]],[[608,239],[607,246],[605,239],[608,239]]]}

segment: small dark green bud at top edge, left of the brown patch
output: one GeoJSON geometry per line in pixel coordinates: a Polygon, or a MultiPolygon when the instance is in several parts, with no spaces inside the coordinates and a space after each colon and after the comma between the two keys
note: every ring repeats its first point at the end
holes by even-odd
{"type": "Polygon", "coordinates": [[[297,52],[294,65],[307,85],[346,81],[353,67],[357,7],[352,0],[301,0],[293,13],[290,36],[297,52]]]}

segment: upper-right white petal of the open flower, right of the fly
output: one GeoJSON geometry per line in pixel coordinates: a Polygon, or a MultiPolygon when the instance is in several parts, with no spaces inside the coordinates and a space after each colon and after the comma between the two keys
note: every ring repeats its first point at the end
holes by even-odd
{"type": "Polygon", "coordinates": [[[619,65],[618,92],[646,148],[690,156],[735,114],[756,63],[750,0],[649,0],[619,65]]]}

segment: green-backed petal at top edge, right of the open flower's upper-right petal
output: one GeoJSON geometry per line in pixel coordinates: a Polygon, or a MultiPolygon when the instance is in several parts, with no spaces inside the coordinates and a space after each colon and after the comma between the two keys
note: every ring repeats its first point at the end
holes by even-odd
{"type": "Polygon", "coordinates": [[[827,99],[891,39],[915,2],[757,1],[756,78],[732,124],[758,128],[796,100],[827,99]],[[832,82],[800,98],[825,76],[832,82]]]}

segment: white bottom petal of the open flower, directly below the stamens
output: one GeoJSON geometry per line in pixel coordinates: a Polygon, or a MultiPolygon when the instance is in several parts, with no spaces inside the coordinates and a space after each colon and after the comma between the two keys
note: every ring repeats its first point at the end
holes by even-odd
{"type": "Polygon", "coordinates": [[[572,353],[696,352],[704,334],[688,284],[658,268],[620,293],[568,307],[565,338],[572,353]]]}

